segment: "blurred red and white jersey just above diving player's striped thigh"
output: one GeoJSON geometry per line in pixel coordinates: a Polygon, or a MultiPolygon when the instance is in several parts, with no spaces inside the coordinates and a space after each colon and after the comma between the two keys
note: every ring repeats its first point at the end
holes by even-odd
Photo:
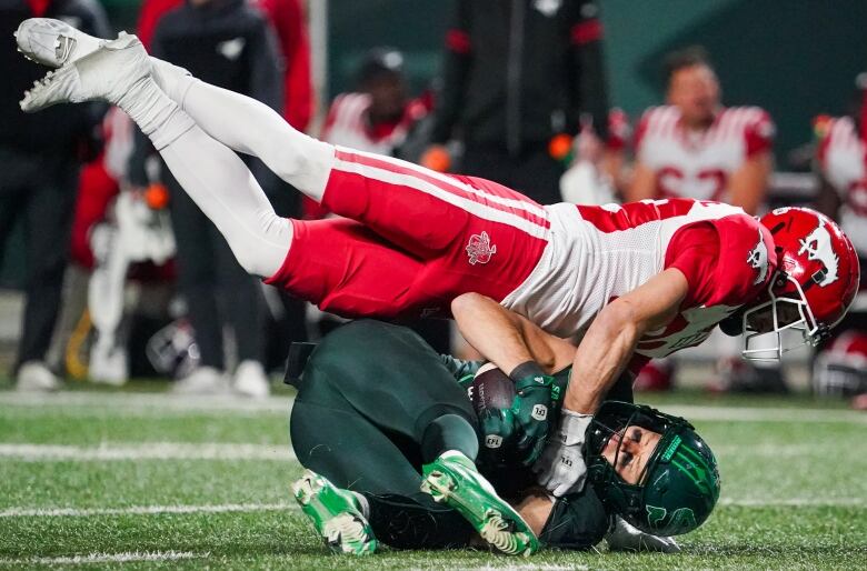
{"type": "Polygon", "coordinates": [[[359,151],[392,154],[403,143],[412,126],[428,112],[421,100],[415,100],[407,104],[399,121],[371,126],[367,117],[369,107],[370,96],[367,93],[337,96],[328,110],[320,139],[359,151]]]}

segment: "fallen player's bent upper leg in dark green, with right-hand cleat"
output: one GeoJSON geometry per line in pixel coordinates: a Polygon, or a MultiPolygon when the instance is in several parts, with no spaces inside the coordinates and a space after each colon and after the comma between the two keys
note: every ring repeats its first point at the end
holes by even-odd
{"type": "MultiPolygon", "coordinates": [[[[474,463],[476,415],[469,399],[418,334],[378,321],[345,325],[319,345],[307,364],[301,384],[305,400],[310,398],[305,385],[311,380],[389,434],[396,448],[411,443],[400,448],[420,457],[421,490],[458,511],[491,545],[509,554],[537,549],[527,523],[479,474],[474,463]]],[[[413,474],[418,481],[415,468],[413,474]]]]}

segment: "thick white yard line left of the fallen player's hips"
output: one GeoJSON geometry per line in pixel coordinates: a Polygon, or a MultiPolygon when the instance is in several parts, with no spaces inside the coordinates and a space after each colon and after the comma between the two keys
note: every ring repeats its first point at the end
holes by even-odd
{"type": "Polygon", "coordinates": [[[127,460],[297,460],[288,444],[220,442],[116,442],[96,447],[0,443],[0,458],[24,462],[91,462],[127,460]]]}

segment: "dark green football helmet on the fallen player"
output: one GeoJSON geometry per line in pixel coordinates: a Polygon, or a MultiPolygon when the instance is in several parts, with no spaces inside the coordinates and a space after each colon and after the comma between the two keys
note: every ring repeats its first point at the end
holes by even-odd
{"type": "Polygon", "coordinates": [[[589,481],[602,503],[646,533],[688,533],[705,522],[719,499],[714,453],[681,418],[646,405],[607,401],[587,429],[585,447],[589,481]],[[629,427],[661,435],[635,484],[624,481],[602,457],[608,440],[625,434],[629,427]]]}

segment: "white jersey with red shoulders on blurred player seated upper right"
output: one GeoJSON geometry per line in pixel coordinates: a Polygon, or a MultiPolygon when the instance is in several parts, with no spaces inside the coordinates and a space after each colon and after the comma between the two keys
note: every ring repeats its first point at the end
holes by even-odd
{"type": "Polygon", "coordinates": [[[636,157],[657,173],[661,198],[726,201],[729,177],[771,148],[774,123],[757,107],[724,108],[711,126],[691,131],[674,106],[647,110],[636,131],[636,157]]]}

